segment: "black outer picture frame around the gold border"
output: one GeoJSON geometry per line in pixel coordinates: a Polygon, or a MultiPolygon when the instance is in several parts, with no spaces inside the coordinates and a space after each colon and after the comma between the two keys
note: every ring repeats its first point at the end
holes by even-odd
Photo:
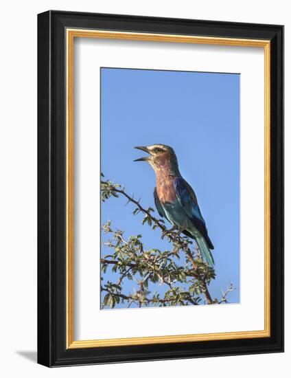
{"type": "Polygon", "coordinates": [[[38,363],[52,367],[275,352],[283,352],[283,26],[54,10],[38,14],[38,363]],[[67,27],[270,41],[270,337],[67,349],[67,27]]]}

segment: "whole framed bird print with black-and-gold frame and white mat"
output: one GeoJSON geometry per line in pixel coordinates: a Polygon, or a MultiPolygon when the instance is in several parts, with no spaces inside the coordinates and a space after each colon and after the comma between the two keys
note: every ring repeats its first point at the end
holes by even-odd
{"type": "Polygon", "coordinates": [[[38,14],[38,362],[283,351],[283,26],[38,14]]]}

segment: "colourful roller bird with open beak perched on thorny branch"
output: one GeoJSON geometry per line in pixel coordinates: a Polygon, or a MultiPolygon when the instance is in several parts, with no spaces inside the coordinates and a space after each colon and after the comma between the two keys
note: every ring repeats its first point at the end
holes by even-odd
{"type": "Polygon", "coordinates": [[[154,203],[160,216],[172,223],[173,230],[178,228],[185,235],[194,238],[202,258],[214,265],[210,249],[213,244],[208,236],[205,220],[202,217],[196,194],[183,179],[178,168],[178,160],[172,147],[165,144],[135,147],[150,156],[136,159],[135,162],[148,162],[156,173],[154,203]]]}

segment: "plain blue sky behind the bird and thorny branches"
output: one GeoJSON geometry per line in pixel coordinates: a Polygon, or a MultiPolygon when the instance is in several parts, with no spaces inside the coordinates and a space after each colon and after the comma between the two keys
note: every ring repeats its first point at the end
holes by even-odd
{"type": "MultiPolygon", "coordinates": [[[[146,155],[133,147],[172,146],[215,247],[217,277],[209,291],[221,298],[231,281],[236,290],[228,300],[240,302],[240,75],[102,68],[101,79],[102,173],[154,208],[154,171],[133,162],[146,155]]],[[[102,223],[110,219],[126,236],[142,234],[148,249],[166,249],[159,230],[141,225],[141,214],[132,216],[134,208],[124,204],[102,203],[102,223]]],[[[125,291],[131,289],[132,281],[125,291]]]]}

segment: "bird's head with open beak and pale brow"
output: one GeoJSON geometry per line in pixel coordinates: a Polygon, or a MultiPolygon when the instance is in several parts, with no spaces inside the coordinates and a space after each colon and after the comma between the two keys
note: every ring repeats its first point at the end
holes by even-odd
{"type": "Polygon", "coordinates": [[[135,148],[149,154],[135,159],[135,162],[148,162],[155,171],[167,170],[170,175],[178,173],[177,157],[172,147],[165,144],[152,144],[152,146],[137,146],[135,148]]]}

